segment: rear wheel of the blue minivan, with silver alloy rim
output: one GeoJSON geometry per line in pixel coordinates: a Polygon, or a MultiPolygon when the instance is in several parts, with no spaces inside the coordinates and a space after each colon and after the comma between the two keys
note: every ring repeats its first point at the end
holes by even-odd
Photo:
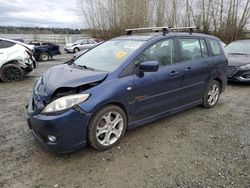
{"type": "Polygon", "coordinates": [[[203,98],[203,106],[205,108],[213,108],[216,106],[220,98],[220,83],[216,80],[212,80],[206,89],[203,98]]]}

